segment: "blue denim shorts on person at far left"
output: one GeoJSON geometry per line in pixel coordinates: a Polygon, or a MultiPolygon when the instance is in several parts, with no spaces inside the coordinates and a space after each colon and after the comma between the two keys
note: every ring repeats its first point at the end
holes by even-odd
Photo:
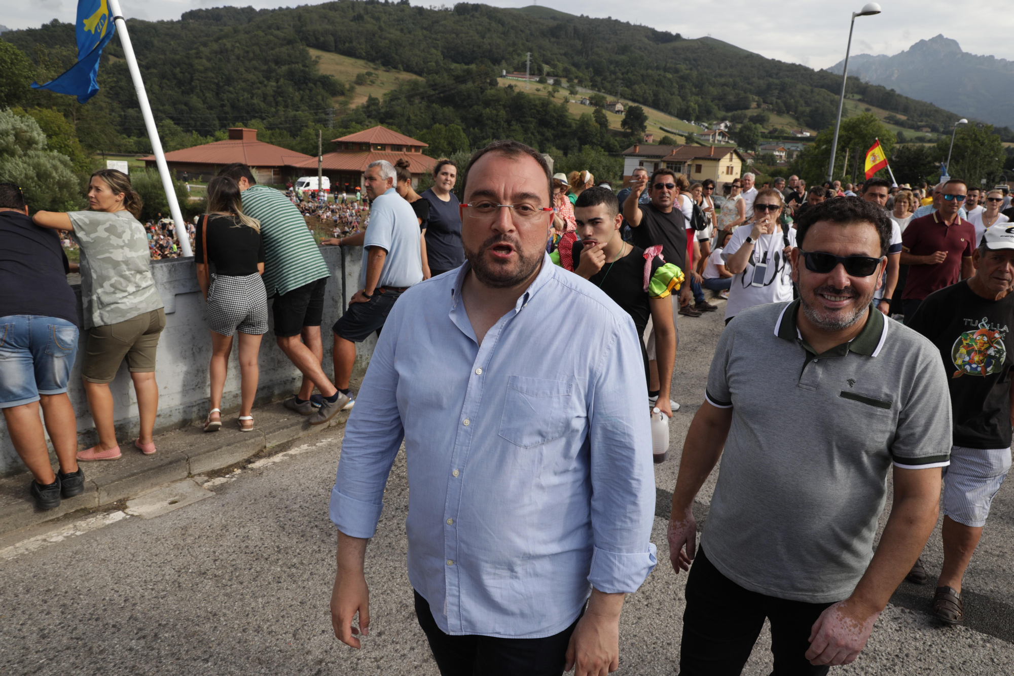
{"type": "Polygon", "coordinates": [[[0,408],[67,392],[77,327],[57,317],[0,317],[0,408]]]}

